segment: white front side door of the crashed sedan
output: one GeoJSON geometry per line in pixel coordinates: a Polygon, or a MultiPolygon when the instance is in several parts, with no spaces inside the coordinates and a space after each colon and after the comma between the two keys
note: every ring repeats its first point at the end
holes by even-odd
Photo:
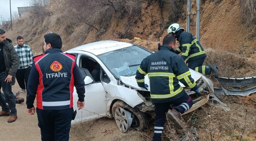
{"type": "MultiPolygon", "coordinates": [[[[79,61],[81,61],[81,57],[86,57],[86,56],[79,56],[77,57],[77,64],[81,64],[79,61]]],[[[89,72],[88,69],[85,68],[81,68],[81,66],[79,66],[79,70],[82,74],[83,79],[86,76],[89,76],[92,78],[91,73],[89,72]]],[[[93,79],[93,78],[92,78],[93,79]]],[[[101,117],[105,117],[106,114],[106,110],[107,110],[107,100],[106,100],[106,92],[103,88],[103,85],[101,83],[101,81],[95,82],[93,80],[93,82],[91,84],[85,85],[85,107],[81,110],[77,110],[77,115],[74,121],[72,122],[81,122],[81,121],[88,121],[88,120],[92,120],[95,118],[101,118],[101,117]]],[[[78,97],[77,97],[77,93],[76,90],[74,88],[74,93],[73,93],[73,102],[74,102],[74,110],[78,109],[77,108],[77,102],[78,97]]]]}

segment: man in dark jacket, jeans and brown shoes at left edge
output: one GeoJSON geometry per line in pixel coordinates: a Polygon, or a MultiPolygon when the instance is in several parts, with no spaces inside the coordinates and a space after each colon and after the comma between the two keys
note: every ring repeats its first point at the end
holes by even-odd
{"type": "Polygon", "coordinates": [[[17,119],[15,99],[11,91],[11,86],[15,84],[15,73],[19,67],[19,57],[11,44],[11,40],[6,38],[4,30],[0,29],[0,88],[2,87],[6,101],[0,95],[0,116],[10,116],[8,123],[17,119]],[[10,112],[11,110],[11,112],[10,112]]]}

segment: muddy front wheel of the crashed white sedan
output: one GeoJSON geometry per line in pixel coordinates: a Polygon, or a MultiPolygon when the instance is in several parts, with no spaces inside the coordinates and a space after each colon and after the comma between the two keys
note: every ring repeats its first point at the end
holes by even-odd
{"type": "Polygon", "coordinates": [[[126,130],[123,130],[122,128],[122,127],[127,127],[126,125],[129,124],[129,120],[128,120],[129,118],[126,118],[126,117],[129,117],[129,114],[126,114],[126,112],[124,112],[122,109],[130,113],[130,116],[132,118],[130,127],[137,128],[139,130],[144,130],[146,128],[146,125],[147,125],[146,115],[143,112],[139,111],[138,109],[130,107],[124,101],[118,100],[112,106],[112,114],[116,120],[119,130],[121,130],[122,132],[127,132],[129,129],[129,127],[126,130]],[[125,117],[122,119],[127,119],[127,120],[125,120],[125,122],[122,122],[120,124],[120,116],[125,117]]]}

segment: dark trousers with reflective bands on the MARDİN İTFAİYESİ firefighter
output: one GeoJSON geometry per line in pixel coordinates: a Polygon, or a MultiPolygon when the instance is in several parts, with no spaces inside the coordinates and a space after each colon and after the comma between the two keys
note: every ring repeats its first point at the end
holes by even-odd
{"type": "Polygon", "coordinates": [[[180,113],[184,113],[185,111],[189,110],[192,105],[193,101],[188,94],[184,94],[182,97],[166,103],[155,103],[155,113],[156,118],[154,122],[154,137],[153,141],[161,141],[161,135],[164,130],[164,123],[166,120],[166,113],[169,109],[171,109],[171,104],[174,106],[173,108],[176,109],[180,113]]]}

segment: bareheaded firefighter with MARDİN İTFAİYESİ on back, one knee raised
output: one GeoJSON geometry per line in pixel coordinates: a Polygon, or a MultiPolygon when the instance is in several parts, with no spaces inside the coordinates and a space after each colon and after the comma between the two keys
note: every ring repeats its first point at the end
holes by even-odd
{"type": "Polygon", "coordinates": [[[191,97],[186,94],[179,84],[182,82],[186,88],[198,92],[198,86],[191,78],[189,68],[183,59],[175,54],[175,37],[168,34],[163,39],[159,51],[143,59],[136,72],[136,81],[139,87],[145,87],[144,78],[148,74],[150,84],[150,97],[155,104],[155,125],[153,141],[161,141],[161,134],[167,118],[174,122],[178,129],[182,129],[181,113],[192,106],[191,97]],[[170,109],[170,105],[173,108],[170,109]],[[169,111],[168,111],[169,110],[169,111]]]}

